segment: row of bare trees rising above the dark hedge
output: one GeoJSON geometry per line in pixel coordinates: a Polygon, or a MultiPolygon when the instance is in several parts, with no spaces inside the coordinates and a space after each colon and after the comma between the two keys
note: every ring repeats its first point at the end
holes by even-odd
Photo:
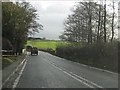
{"type": "Polygon", "coordinates": [[[72,14],[64,21],[65,30],[60,38],[88,44],[112,42],[117,29],[115,1],[111,1],[109,11],[106,3],[106,0],[88,0],[75,5],[72,14]]]}

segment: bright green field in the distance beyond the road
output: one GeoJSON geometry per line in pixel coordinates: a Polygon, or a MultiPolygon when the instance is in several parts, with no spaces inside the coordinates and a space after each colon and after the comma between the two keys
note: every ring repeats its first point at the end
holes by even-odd
{"type": "Polygon", "coordinates": [[[57,45],[66,45],[67,42],[63,41],[50,41],[50,40],[28,40],[27,45],[32,45],[33,47],[37,47],[39,49],[47,49],[51,48],[53,50],[56,49],[57,45]]]}

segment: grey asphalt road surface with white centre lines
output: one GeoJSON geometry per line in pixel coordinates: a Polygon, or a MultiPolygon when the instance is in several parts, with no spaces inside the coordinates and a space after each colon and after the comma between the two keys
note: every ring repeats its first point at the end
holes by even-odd
{"type": "Polygon", "coordinates": [[[13,88],[117,88],[118,75],[39,51],[28,55],[13,88]]]}

